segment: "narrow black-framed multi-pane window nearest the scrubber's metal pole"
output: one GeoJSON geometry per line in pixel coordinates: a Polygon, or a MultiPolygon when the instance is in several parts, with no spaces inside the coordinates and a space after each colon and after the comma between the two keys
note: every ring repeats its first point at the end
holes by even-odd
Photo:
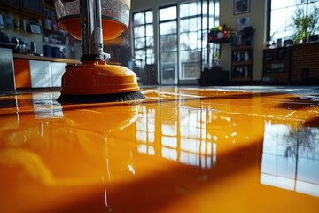
{"type": "Polygon", "coordinates": [[[133,14],[134,55],[138,66],[155,63],[153,11],[133,14]]]}

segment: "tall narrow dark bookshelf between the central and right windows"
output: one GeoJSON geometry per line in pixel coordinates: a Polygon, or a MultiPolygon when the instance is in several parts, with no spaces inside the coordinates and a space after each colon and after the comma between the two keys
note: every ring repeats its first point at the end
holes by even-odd
{"type": "Polygon", "coordinates": [[[248,26],[235,36],[231,49],[232,82],[253,80],[253,35],[254,27],[248,26]]]}

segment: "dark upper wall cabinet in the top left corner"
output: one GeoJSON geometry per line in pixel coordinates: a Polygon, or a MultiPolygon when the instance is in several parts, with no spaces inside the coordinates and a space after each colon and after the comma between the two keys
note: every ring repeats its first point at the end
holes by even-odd
{"type": "Polygon", "coordinates": [[[0,4],[12,12],[33,14],[35,17],[44,15],[43,0],[0,0],[0,4]]]}

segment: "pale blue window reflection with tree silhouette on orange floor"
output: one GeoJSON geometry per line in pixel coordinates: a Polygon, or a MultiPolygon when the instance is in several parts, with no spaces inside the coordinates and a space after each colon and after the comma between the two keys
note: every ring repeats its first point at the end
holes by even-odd
{"type": "Polygon", "coordinates": [[[319,197],[319,129],[265,125],[261,184],[319,197]]]}

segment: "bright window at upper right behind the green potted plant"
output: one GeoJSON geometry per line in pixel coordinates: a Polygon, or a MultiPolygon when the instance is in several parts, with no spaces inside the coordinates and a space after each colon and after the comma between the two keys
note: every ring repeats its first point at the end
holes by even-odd
{"type": "Polygon", "coordinates": [[[280,38],[292,39],[296,34],[292,22],[294,14],[298,10],[304,15],[310,14],[315,8],[319,8],[319,0],[270,0],[268,7],[270,7],[268,41],[276,41],[280,38]]]}

